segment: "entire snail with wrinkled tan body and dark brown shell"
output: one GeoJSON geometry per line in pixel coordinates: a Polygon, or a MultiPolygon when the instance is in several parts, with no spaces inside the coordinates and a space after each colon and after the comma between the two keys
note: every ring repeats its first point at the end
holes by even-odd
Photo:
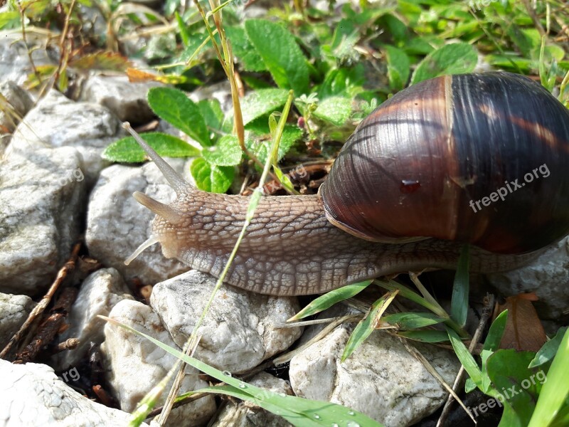
{"type": "MultiPolygon", "coordinates": [[[[159,242],[166,257],[218,277],[249,198],[200,191],[140,144],[177,197],[166,205],[134,194],[156,218],[127,263],[159,242]]],[[[418,83],[358,125],[318,195],[260,199],[225,283],[270,295],[321,293],[455,268],[464,243],[473,245],[474,271],[519,267],[569,232],[568,153],[569,111],[526,77],[418,83]],[[501,199],[492,196],[508,185],[501,199]],[[481,200],[474,211],[470,202],[481,200]]]]}

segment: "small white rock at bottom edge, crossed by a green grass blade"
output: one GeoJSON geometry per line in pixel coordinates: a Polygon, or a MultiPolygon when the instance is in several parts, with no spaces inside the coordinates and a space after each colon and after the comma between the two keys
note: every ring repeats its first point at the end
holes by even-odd
{"type": "MultiPolygon", "coordinates": [[[[284,379],[275,378],[267,372],[260,372],[247,381],[257,387],[269,389],[279,394],[292,395],[290,384],[284,379]]],[[[289,427],[285,418],[270,413],[247,401],[230,401],[219,413],[212,427],[289,427]]]]}

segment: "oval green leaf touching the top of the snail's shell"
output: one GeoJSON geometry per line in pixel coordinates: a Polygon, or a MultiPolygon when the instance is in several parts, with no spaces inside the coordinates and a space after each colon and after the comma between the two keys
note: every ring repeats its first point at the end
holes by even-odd
{"type": "Polygon", "coordinates": [[[415,69],[411,83],[439,75],[471,73],[477,61],[477,53],[468,43],[445,45],[425,56],[415,69]]]}

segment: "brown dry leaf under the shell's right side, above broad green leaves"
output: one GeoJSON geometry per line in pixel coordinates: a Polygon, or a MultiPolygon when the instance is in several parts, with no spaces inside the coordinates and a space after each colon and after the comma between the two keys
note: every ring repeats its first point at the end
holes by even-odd
{"type": "Polygon", "coordinates": [[[534,293],[519,294],[507,297],[504,305],[496,306],[494,318],[502,311],[508,310],[506,329],[500,342],[501,349],[538,352],[546,343],[546,332],[531,303],[537,300],[538,297],[534,293]]]}

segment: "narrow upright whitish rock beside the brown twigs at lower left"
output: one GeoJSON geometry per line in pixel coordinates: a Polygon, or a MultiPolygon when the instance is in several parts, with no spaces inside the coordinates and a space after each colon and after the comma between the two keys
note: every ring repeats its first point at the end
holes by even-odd
{"type": "Polygon", "coordinates": [[[115,268],[104,268],[89,275],[82,283],[73,302],[67,323],[69,328],[60,334],[60,342],[79,339],[77,348],[58,353],[53,359],[55,367],[73,367],[85,357],[91,342],[100,344],[105,339],[105,322],[97,315],[108,316],[112,307],[125,298],[132,299],[129,289],[115,268]]]}

